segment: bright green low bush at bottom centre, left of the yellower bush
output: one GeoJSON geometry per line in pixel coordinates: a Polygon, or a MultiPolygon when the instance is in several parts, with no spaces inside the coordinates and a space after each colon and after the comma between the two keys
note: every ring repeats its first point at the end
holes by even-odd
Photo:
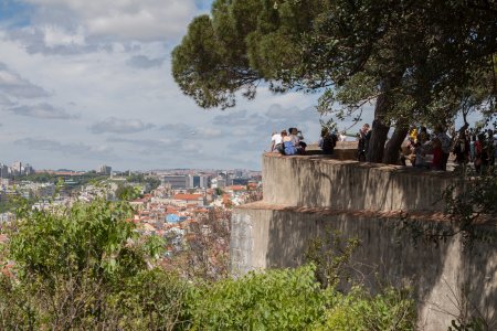
{"type": "Polygon", "coordinates": [[[192,288],[188,313],[193,330],[305,330],[321,320],[330,292],[314,267],[251,273],[192,288]]]}

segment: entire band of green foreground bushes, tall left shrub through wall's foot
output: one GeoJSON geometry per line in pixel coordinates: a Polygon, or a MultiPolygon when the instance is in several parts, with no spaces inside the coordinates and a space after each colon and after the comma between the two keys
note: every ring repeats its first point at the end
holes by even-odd
{"type": "Polygon", "coordinates": [[[345,295],[313,264],[218,281],[166,271],[126,203],[18,212],[0,246],[2,330],[414,330],[409,292],[345,295]]]}

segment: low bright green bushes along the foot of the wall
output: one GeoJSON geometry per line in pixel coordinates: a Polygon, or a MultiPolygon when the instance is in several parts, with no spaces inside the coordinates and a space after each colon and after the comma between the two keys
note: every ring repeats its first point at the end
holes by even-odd
{"type": "Polygon", "coordinates": [[[192,287],[186,318],[192,330],[415,330],[410,290],[343,295],[316,282],[316,267],[251,273],[192,287]]]}

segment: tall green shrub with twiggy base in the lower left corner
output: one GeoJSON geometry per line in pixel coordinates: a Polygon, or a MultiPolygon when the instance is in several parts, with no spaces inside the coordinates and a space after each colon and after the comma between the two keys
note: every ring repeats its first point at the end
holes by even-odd
{"type": "Polygon", "coordinates": [[[171,329],[186,284],[147,266],[163,243],[139,238],[131,215],[105,201],[19,210],[1,254],[14,261],[0,277],[2,329],[171,329]]]}

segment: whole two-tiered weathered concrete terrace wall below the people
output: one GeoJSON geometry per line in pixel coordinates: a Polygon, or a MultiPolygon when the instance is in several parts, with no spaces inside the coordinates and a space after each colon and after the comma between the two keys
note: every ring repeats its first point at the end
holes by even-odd
{"type": "Polygon", "coordinates": [[[401,211],[408,211],[410,222],[451,231],[442,204],[434,202],[454,180],[446,173],[322,156],[265,154],[264,200],[233,212],[233,273],[302,265],[309,241],[337,229],[361,241],[353,256],[356,276],[372,291],[377,279],[413,287],[420,330],[446,330],[462,310],[455,302],[497,319],[495,223],[478,228],[490,239],[464,247],[459,235],[436,246],[414,243],[414,234],[402,228],[401,211]]]}

